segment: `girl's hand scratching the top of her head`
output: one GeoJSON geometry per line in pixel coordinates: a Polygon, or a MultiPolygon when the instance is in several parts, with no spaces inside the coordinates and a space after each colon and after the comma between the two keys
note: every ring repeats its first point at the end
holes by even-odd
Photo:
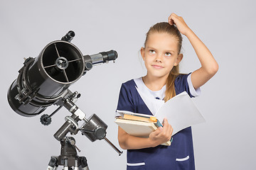
{"type": "Polygon", "coordinates": [[[171,13],[171,16],[168,18],[168,23],[172,25],[176,25],[178,30],[183,34],[186,35],[190,28],[186,25],[185,21],[181,16],[177,16],[175,13],[171,13]]]}

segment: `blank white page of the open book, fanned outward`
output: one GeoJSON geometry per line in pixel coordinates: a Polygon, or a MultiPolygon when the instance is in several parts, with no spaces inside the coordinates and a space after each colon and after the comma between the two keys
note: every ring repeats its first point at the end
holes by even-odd
{"type": "Polygon", "coordinates": [[[174,128],[173,135],[191,125],[206,122],[186,91],[164,103],[155,116],[161,123],[167,118],[174,128]]]}

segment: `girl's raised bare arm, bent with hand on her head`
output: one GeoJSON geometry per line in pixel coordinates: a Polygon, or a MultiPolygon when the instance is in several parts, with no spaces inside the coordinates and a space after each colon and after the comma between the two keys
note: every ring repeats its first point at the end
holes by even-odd
{"type": "Polygon", "coordinates": [[[171,25],[175,24],[181,34],[186,35],[201,62],[201,67],[191,74],[193,87],[198,89],[200,86],[203,86],[203,84],[206,84],[206,82],[218,72],[218,63],[215,61],[206,45],[204,45],[196,34],[188,28],[181,16],[171,13],[168,21],[171,25]]]}

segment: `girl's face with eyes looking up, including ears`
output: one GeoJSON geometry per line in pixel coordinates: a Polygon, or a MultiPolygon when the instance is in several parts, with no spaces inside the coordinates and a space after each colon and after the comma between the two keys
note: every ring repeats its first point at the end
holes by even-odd
{"type": "Polygon", "coordinates": [[[145,47],[141,49],[147,75],[167,79],[171,69],[181,62],[183,55],[178,54],[178,41],[168,33],[152,33],[145,47]]]}

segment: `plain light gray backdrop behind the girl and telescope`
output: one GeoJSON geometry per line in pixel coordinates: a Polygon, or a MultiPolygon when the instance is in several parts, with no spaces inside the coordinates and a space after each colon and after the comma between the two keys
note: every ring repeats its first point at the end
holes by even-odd
{"type": "MultiPolygon", "coordinates": [[[[63,108],[45,127],[40,116],[25,118],[11,110],[6,93],[23,57],[37,57],[68,30],[75,31],[72,42],[83,55],[117,50],[116,63],[94,67],[70,90],[82,94],[77,105],[87,117],[97,113],[107,123],[107,137],[118,146],[113,117],[119,88],[146,74],[138,55],[145,33],[172,12],[183,16],[220,66],[194,99],[206,118],[193,126],[196,169],[255,169],[255,6],[255,1],[1,0],[1,169],[46,169],[50,156],[60,154],[53,134],[70,115],[63,108]]],[[[183,54],[181,72],[200,67],[186,38],[183,54]]],[[[125,169],[125,151],[118,157],[104,141],[92,143],[80,133],[75,138],[90,169],[125,169]]]]}

